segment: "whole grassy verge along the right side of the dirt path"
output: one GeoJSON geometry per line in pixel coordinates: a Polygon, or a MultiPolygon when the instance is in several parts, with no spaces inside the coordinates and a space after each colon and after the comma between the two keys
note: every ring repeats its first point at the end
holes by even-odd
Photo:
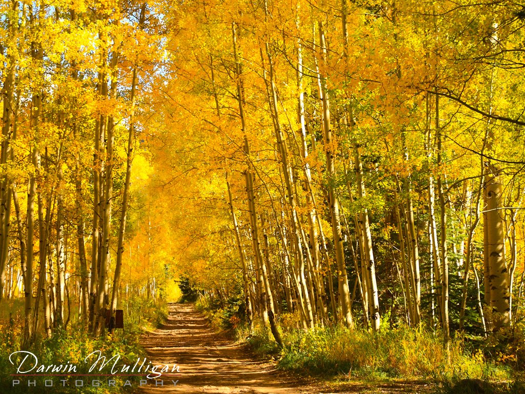
{"type": "Polygon", "coordinates": [[[520,346],[522,336],[510,344],[494,338],[488,345],[481,338],[466,341],[456,337],[447,351],[442,337],[424,328],[401,326],[377,334],[342,326],[306,331],[297,328],[298,316],[283,314],[279,323],[285,347],[279,349],[269,330],[261,325],[256,324],[253,333],[249,332],[239,305],[218,307],[201,300],[197,309],[215,327],[246,341],[259,356],[274,358],[278,368],[315,376],[334,389],[356,383],[373,389],[391,383],[418,386],[423,392],[436,394],[525,392],[523,365],[512,356],[513,347],[520,346]],[[423,387],[423,383],[428,384],[423,387]]]}

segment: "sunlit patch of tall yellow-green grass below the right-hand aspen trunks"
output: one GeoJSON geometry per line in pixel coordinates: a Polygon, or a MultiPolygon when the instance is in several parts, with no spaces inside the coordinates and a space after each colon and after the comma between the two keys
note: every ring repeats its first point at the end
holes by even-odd
{"type": "Polygon", "coordinates": [[[279,366],[324,375],[445,381],[460,375],[506,379],[510,372],[482,352],[472,355],[460,338],[450,340],[447,351],[440,336],[404,326],[380,333],[342,326],[290,330],[283,340],[279,366]]]}

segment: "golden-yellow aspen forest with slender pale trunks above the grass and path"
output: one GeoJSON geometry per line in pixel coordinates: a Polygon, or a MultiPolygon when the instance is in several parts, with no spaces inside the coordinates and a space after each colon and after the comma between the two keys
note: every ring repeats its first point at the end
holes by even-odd
{"type": "Polygon", "coordinates": [[[177,284],[279,346],[282,316],[445,344],[522,318],[522,5],[1,7],[0,295],[26,344],[177,284]]]}

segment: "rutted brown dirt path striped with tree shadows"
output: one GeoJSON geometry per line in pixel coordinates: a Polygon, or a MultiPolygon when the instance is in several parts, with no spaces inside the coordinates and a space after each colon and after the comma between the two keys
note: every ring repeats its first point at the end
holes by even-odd
{"type": "Polygon", "coordinates": [[[163,374],[155,386],[149,379],[140,394],[303,394],[303,393],[427,393],[430,386],[418,383],[358,383],[314,380],[258,359],[246,344],[233,343],[217,333],[193,304],[169,304],[169,316],[155,331],[141,339],[155,365],[176,362],[179,372],[163,374]],[[174,382],[176,384],[174,385],[174,382]]]}

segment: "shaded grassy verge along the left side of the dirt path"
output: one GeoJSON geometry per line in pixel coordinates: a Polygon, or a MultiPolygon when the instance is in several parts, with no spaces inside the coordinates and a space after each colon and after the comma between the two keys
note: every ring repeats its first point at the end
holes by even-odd
{"type": "MultiPolygon", "coordinates": [[[[145,357],[139,339],[140,335],[148,329],[156,327],[161,323],[167,313],[167,306],[164,302],[152,302],[144,298],[133,298],[123,300],[124,309],[124,329],[117,329],[112,336],[102,336],[93,338],[87,334],[77,322],[75,316],[71,316],[70,324],[67,329],[56,330],[51,338],[37,336],[35,343],[28,349],[38,358],[38,365],[65,365],[74,364],[77,366],[76,374],[89,373],[92,361],[86,363],[85,358],[91,352],[100,350],[101,354],[107,359],[114,355],[120,355],[118,365],[127,364],[133,366],[137,359],[145,357]]],[[[11,374],[16,372],[16,367],[9,361],[9,356],[21,350],[22,346],[22,305],[15,300],[6,302],[8,305],[0,316],[0,392],[2,393],[23,393],[35,391],[46,393],[90,393],[90,394],[111,394],[126,392],[136,386],[138,377],[120,376],[100,376],[100,377],[81,377],[82,387],[76,386],[75,377],[53,377],[53,386],[45,386],[43,377],[13,377],[11,374]],[[10,316],[10,318],[9,318],[10,316]],[[20,380],[18,385],[13,387],[13,379],[20,380]],[[28,380],[35,379],[34,387],[28,387],[28,380]],[[62,382],[61,379],[66,379],[62,382]],[[96,380],[99,380],[97,383],[96,380]],[[110,380],[114,380],[114,386],[110,386],[110,380]],[[126,381],[129,380],[129,383],[126,381]],[[99,384],[98,387],[96,385],[99,384]],[[95,387],[94,387],[95,386],[95,387]],[[80,390],[80,391],[79,391],[80,390]]],[[[25,356],[25,355],[24,355],[25,356]]],[[[16,356],[13,356],[13,360],[16,356]]],[[[23,357],[18,357],[16,364],[22,361],[23,357]]],[[[28,359],[28,364],[32,358],[28,359]]],[[[112,365],[110,362],[109,365],[112,365]]],[[[110,369],[110,367],[106,368],[110,369]]],[[[108,374],[104,369],[101,374],[108,374]]],[[[79,377],[80,378],[80,377],[79,377]]],[[[47,378],[48,379],[48,378],[47,378]]],[[[48,379],[49,380],[49,379],[48,379]]],[[[51,384],[48,381],[48,384],[51,384]]],[[[80,384],[80,382],[78,382],[80,384]]]]}

